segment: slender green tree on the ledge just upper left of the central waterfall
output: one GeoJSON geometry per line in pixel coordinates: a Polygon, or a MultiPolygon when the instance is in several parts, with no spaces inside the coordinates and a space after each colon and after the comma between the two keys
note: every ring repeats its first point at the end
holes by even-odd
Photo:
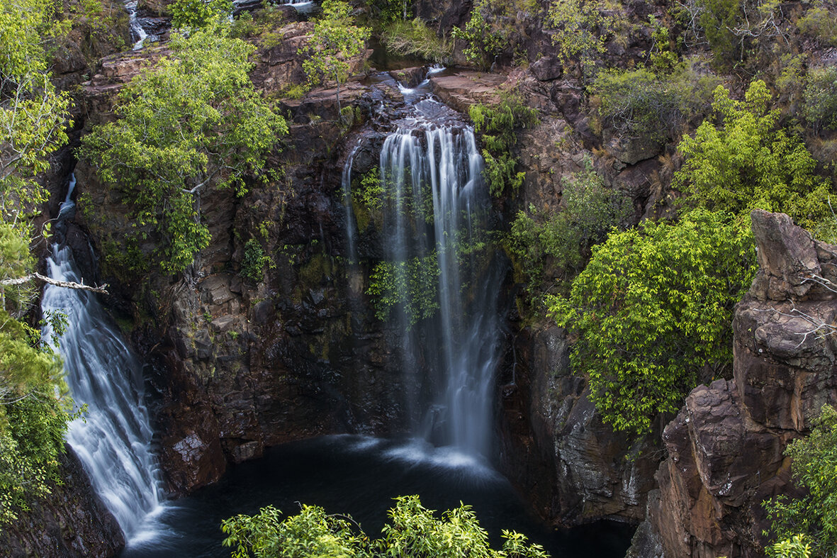
{"type": "Polygon", "coordinates": [[[337,111],[343,115],[340,105],[340,85],[349,78],[349,59],[366,48],[372,30],[357,27],[352,20],[352,8],[342,0],[325,0],[322,3],[321,18],[314,23],[311,42],[300,48],[306,59],[302,68],[306,70],[311,85],[317,85],[324,78],[337,84],[337,111]]]}

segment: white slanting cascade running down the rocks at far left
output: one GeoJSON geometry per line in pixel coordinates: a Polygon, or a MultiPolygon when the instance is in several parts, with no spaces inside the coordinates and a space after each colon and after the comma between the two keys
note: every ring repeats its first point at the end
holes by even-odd
{"type": "MultiPolygon", "coordinates": [[[[71,178],[59,220],[74,211],[69,199],[74,184],[71,178]]],[[[47,265],[53,279],[81,280],[68,246],[53,245],[47,265]]],[[[69,425],[67,442],[126,540],[153,537],[146,519],[162,511],[163,493],[151,452],[141,360],[122,340],[94,293],[47,285],[41,307],[44,315],[66,315],[68,325],[59,335],[57,349],[76,405],[87,406],[85,415],[69,425]]],[[[44,327],[45,339],[51,340],[53,334],[51,326],[44,327]]]]}

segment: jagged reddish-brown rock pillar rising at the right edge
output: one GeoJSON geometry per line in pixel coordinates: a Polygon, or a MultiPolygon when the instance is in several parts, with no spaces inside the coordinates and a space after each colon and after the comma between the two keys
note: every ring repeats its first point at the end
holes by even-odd
{"type": "Polygon", "coordinates": [[[665,427],[649,519],[669,556],[761,556],[762,502],[793,495],[783,451],[837,400],[837,247],[752,213],[759,271],[737,306],[734,379],[701,385],[665,427]]]}

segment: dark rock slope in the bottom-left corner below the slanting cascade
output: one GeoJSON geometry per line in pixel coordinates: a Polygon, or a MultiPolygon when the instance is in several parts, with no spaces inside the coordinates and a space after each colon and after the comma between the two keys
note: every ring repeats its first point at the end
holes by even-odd
{"type": "Polygon", "coordinates": [[[116,519],[95,496],[81,462],[68,446],[59,458],[59,476],[64,484],[31,504],[12,524],[0,530],[0,548],[10,558],[40,556],[116,555],[125,539],[116,519]]]}

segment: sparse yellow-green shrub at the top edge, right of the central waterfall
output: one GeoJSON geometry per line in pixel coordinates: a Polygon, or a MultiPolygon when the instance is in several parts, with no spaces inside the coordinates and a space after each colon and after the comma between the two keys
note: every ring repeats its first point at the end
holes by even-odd
{"type": "Polygon", "coordinates": [[[605,17],[601,0],[554,0],[547,22],[555,29],[552,44],[564,64],[577,58],[583,66],[592,65],[596,54],[605,52],[604,44],[614,33],[617,20],[605,17]]]}

